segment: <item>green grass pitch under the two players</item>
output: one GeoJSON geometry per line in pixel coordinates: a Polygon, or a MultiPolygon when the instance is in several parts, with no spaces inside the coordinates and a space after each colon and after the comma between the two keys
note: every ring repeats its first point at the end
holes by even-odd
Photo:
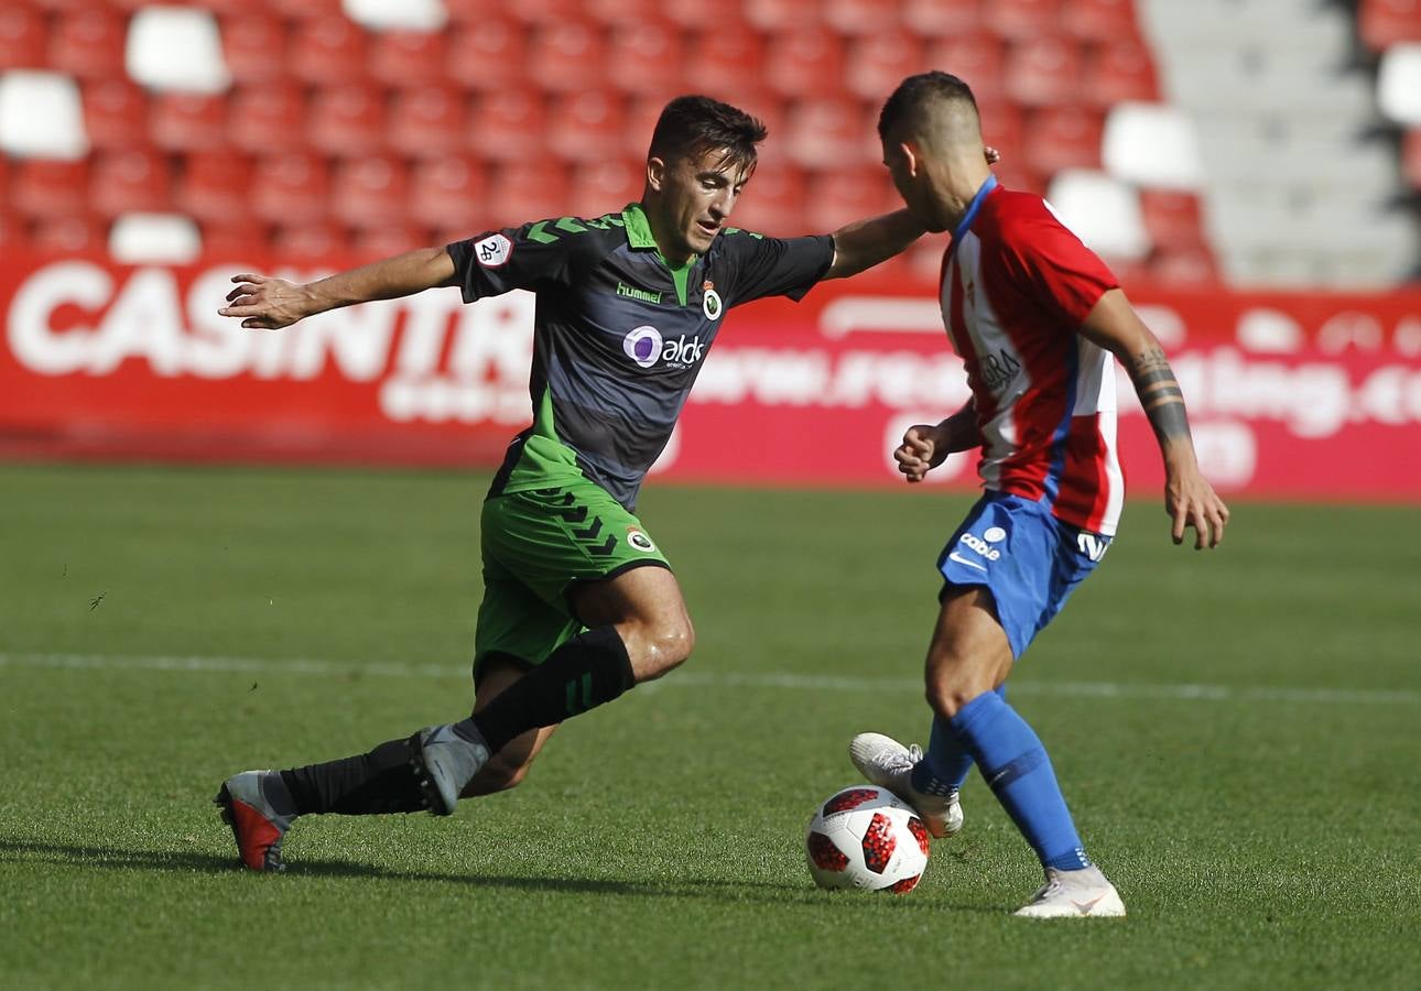
{"type": "Polygon", "coordinates": [[[1127,507],[1012,681],[1125,920],[1012,919],[1037,867],[975,775],[917,892],[811,886],[848,738],[928,726],[968,498],[907,488],[649,488],[685,669],[453,819],[308,819],[236,870],[226,775],[466,711],[485,484],[0,470],[0,987],[1421,982],[1415,508],[1242,503],[1199,554],[1127,507]]]}

